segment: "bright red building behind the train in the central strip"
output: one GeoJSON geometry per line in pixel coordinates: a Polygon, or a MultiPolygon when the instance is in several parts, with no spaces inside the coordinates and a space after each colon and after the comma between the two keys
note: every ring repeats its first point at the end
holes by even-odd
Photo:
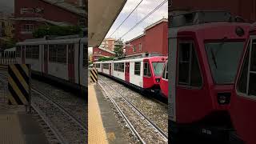
{"type": "Polygon", "coordinates": [[[168,20],[162,18],[147,26],[144,34],[126,42],[125,55],[157,53],[168,55],[168,20]]]}

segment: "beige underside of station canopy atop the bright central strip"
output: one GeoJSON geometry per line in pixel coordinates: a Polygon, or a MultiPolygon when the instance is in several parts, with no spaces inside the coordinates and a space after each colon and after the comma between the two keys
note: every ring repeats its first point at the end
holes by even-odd
{"type": "Polygon", "coordinates": [[[88,1],[88,46],[99,46],[121,12],[126,0],[88,1]]]}

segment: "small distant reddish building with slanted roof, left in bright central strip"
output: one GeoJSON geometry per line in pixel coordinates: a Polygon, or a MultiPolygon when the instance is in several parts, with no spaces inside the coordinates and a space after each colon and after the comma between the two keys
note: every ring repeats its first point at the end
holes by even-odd
{"type": "Polygon", "coordinates": [[[94,47],[93,48],[93,54],[92,54],[92,62],[97,62],[98,58],[105,57],[110,58],[114,57],[115,53],[110,50],[106,50],[101,47],[94,47]]]}

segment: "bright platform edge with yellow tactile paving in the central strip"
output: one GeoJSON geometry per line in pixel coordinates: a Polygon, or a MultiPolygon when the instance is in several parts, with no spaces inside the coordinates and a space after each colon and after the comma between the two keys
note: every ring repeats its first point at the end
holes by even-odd
{"type": "Polygon", "coordinates": [[[88,86],[88,142],[126,144],[114,112],[97,84],[88,86]]]}

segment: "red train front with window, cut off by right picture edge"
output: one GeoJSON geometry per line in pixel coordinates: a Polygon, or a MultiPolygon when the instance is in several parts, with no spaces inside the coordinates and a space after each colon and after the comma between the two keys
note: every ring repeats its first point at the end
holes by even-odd
{"type": "Polygon", "coordinates": [[[245,143],[256,143],[256,38],[250,39],[230,104],[237,134],[245,143]]]}

